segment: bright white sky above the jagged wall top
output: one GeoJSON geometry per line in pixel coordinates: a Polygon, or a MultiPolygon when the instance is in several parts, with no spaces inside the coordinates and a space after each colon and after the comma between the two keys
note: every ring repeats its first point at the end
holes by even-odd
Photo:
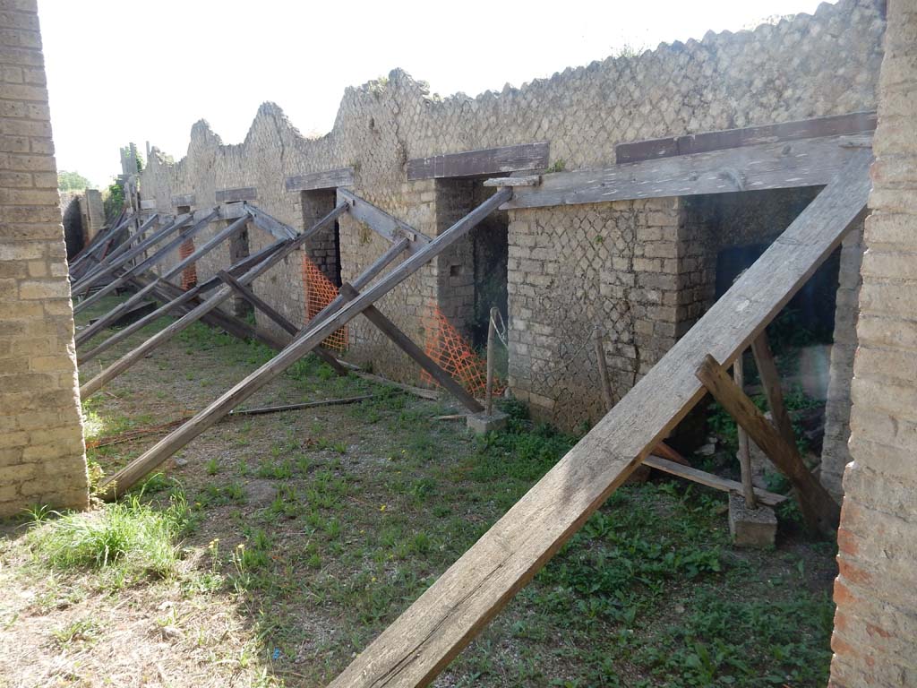
{"type": "Polygon", "coordinates": [[[812,13],[818,0],[39,0],[59,170],[94,184],[134,141],[184,156],[191,126],[245,138],[271,100],[304,134],[344,88],[401,67],[434,93],[519,86],[624,45],[655,48],[812,13]]]}

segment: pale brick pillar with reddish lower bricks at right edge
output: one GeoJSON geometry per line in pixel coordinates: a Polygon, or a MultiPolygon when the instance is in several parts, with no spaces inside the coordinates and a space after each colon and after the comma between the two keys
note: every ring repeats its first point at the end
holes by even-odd
{"type": "Polygon", "coordinates": [[[917,685],[917,10],[889,0],[830,685],[917,685]]]}

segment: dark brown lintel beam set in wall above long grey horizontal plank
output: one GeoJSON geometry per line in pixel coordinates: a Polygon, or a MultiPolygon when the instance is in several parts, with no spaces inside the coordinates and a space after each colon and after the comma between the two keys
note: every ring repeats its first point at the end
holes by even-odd
{"type": "Polygon", "coordinates": [[[854,112],[833,117],[816,117],[780,124],[741,129],[705,131],[701,134],[648,139],[618,144],[614,149],[614,161],[638,162],[657,160],[674,155],[705,153],[711,150],[757,146],[760,143],[778,143],[799,139],[815,139],[823,136],[843,136],[875,131],[878,117],[875,111],[854,112]]]}

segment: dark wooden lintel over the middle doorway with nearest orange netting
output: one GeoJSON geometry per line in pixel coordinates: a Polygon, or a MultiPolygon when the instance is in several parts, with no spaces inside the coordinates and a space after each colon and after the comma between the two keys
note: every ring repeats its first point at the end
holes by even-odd
{"type": "Polygon", "coordinates": [[[465,150],[407,161],[407,178],[474,177],[547,168],[547,141],[481,150],[465,150]]]}

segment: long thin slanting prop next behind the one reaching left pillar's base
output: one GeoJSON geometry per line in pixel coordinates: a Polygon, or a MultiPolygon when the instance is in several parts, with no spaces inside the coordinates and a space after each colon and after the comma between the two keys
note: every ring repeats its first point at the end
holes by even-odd
{"type": "MultiPolygon", "coordinates": [[[[337,216],[346,211],[347,205],[338,205],[334,210],[332,210],[325,217],[315,223],[314,227],[308,231],[305,231],[299,237],[286,244],[281,250],[278,250],[276,253],[271,255],[270,258],[260,262],[260,264],[251,268],[249,272],[246,272],[241,277],[239,277],[239,282],[248,284],[264,272],[269,271],[274,265],[290,255],[290,253],[292,253],[294,250],[302,246],[307,239],[315,234],[315,232],[318,232],[323,227],[326,227],[328,223],[333,222],[337,216]]],[[[151,351],[158,349],[183,329],[191,327],[195,322],[225,302],[226,299],[232,296],[232,294],[233,290],[231,288],[227,286],[221,287],[216,291],[215,294],[204,301],[203,304],[194,308],[190,313],[180,317],[178,320],[171,323],[169,327],[161,329],[136,349],[128,351],[120,359],[108,366],[104,371],[99,372],[99,374],[96,375],[92,380],[84,383],[83,386],[80,387],[80,394],[82,395],[83,399],[87,398],[90,394],[98,392],[98,390],[101,389],[106,383],[114,380],[118,375],[120,375],[122,372],[125,372],[134,363],[148,355],[151,351]]]]}

